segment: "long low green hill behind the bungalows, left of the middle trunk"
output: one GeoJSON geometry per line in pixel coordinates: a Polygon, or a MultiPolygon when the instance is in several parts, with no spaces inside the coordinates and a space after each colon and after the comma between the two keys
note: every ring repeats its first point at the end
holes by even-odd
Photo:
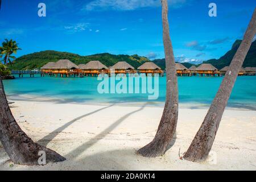
{"type": "Polygon", "coordinates": [[[92,60],[101,61],[107,67],[114,65],[118,61],[126,61],[134,68],[138,68],[143,63],[150,61],[147,57],[138,55],[112,55],[110,53],[100,53],[90,56],[80,56],[74,53],[57,52],[57,51],[41,51],[18,57],[9,68],[12,70],[40,69],[48,62],[56,62],[60,59],[68,59],[73,63],[86,64],[92,60]]]}

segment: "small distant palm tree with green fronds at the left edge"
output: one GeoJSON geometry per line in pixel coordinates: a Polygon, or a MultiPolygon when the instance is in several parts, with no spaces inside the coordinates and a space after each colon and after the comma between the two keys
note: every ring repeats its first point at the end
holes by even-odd
{"type": "Polygon", "coordinates": [[[0,47],[1,54],[5,55],[5,57],[3,58],[3,63],[11,64],[11,59],[16,59],[16,57],[11,55],[13,53],[17,53],[18,50],[20,50],[20,48],[18,47],[16,41],[14,41],[13,39],[11,39],[10,41],[8,39],[5,39],[5,42],[2,43],[2,47],[0,47]]]}

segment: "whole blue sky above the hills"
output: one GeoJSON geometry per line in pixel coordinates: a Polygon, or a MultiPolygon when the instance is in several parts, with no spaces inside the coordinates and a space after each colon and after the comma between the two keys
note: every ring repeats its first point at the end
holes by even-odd
{"type": "MultiPolygon", "coordinates": [[[[255,0],[169,1],[170,34],[176,61],[219,58],[241,39],[255,0]],[[209,3],[217,17],[208,15],[209,3]]],[[[164,57],[160,0],[2,0],[0,42],[14,39],[27,53],[55,50],[92,55],[164,57]],[[38,4],[46,4],[46,17],[38,4]]]]}

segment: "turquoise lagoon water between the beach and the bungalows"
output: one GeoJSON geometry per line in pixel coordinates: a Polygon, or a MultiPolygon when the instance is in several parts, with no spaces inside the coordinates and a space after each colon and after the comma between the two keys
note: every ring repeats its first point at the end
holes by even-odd
{"type": "MultiPolygon", "coordinates": [[[[179,102],[190,106],[209,106],[223,77],[179,77],[179,102]]],[[[118,81],[117,81],[118,82],[118,81]]],[[[45,98],[56,103],[81,104],[142,104],[163,105],[166,96],[166,77],[159,77],[159,97],[148,100],[148,94],[100,94],[97,77],[17,77],[4,80],[7,97],[11,100],[33,101],[45,98]]],[[[141,86],[141,85],[140,85],[141,86]]],[[[256,76],[237,78],[228,106],[256,110],[256,76]]]]}

